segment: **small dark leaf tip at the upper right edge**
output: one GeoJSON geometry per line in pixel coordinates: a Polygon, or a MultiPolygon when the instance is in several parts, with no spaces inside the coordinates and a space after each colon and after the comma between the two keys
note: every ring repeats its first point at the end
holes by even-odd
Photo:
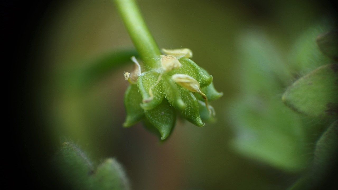
{"type": "Polygon", "coordinates": [[[338,29],[318,35],[317,45],[320,51],[338,62],[338,29]]]}

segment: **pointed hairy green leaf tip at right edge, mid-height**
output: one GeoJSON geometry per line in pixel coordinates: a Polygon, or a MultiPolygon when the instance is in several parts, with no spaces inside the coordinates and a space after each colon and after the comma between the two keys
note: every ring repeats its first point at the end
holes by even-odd
{"type": "Polygon", "coordinates": [[[282,100],[293,110],[309,116],[337,116],[337,84],[338,65],[324,65],[295,81],[282,100]]]}

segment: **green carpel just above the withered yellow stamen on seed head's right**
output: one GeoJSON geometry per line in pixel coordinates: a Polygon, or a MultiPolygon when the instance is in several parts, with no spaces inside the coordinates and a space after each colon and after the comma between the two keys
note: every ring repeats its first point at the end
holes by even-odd
{"type": "Polygon", "coordinates": [[[212,76],[206,75],[195,62],[185,57],[180,58],[179,62],[182,64],[182,67],[177,70],[170,71],[168,73],[170,76],[173,74],[189,75],[198,81],[201,88],[204,88],[211,84],[212,76]]]}

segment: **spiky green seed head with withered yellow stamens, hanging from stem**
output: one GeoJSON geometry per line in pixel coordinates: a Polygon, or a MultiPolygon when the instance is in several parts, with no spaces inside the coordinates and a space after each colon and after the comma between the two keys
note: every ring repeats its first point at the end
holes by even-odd
{"type": "Polygon", "coordinates": [[[123,125],[128,127],[143,121],[161,140],[172,133],[177,114],[196,126],[204,125],[202,119],[213,120],[215,111],[208,100],[222,96],[214,89],[213,77],[188,58],[192,56],[191,50],[163,51],[167,55],[156,59],[160,68],[131,73],[137,78],[135,83],[129,78],[131,74],[124,73],[131,85],[124,96],[127,116],[123,125]]]}

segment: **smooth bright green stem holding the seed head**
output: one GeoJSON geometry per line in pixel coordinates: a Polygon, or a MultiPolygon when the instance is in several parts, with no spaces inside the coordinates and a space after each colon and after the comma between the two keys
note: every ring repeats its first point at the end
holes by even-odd
{"type": "Polygon", "coordinates": [[[143,62],[151,68],[159,67],[156,58],[160,57],[161,51],[150,34],[135,0],[114,0],[114,2],[143,62]]]}

